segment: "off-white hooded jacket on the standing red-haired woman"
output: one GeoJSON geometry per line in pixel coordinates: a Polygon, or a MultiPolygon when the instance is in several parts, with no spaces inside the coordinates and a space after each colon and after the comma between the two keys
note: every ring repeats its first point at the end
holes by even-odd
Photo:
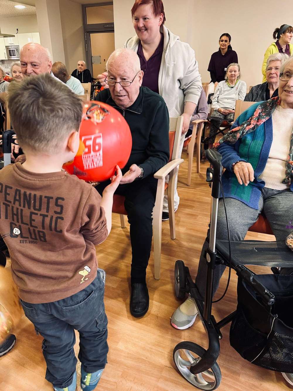
{"type": "MultiPolygon", "coordinates": [[[[198,103],[202,90],[202,79],[194,50],[186,42],[181,42],[164,25],[164,50],[159,70],[159,94],[164,98],[170,117],[178,117],[184,112],[184,102],[198,103]]],[[[127,39],[124,47],[138,51],[139,38],[127,39]]]]}

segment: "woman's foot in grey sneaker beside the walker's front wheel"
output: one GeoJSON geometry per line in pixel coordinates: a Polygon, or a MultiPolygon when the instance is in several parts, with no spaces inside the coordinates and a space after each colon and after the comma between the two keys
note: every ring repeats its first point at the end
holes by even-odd
{"type": "Polygon", "coordinates": [[[185,330],[193,325],[197,317],[197,309],[194,300],[189,298],[174,311],[171,318],[171,325],[178,330],[185,330]]]}

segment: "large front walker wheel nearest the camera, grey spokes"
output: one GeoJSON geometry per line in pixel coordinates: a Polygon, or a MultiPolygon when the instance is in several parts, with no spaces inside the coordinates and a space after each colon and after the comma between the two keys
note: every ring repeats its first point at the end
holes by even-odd
{"type": "Polygon", "coordinates": [[[180,342],[173,350],[173,360],[180,374],[193,386],[201,390],[215,390],[220,386],[222,375],[217,363],[207,371],[193,375],[190,367],[204,355],[205,349],[193,342],[180,342]]]}

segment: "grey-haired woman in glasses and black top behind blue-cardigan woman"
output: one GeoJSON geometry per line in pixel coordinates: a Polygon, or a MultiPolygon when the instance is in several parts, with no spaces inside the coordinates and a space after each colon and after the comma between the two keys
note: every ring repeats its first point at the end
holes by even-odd
{"type": "Polygon", "coordinates": [[[280,67],[288,55],[273,53],[266,62],[266,81],[252,87],[245,97],[246,102],[261,102],[278,96],[280,67]]]}

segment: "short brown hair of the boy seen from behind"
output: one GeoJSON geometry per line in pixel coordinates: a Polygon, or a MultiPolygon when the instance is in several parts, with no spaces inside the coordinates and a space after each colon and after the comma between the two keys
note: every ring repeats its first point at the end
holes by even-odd
{"type": "Polygon", "coordinates": [[[11,123],[20,146],[54,154],[73,130],[78,131],[82,101],[50,74],[25,77],[8,91],[11,123]]]}

